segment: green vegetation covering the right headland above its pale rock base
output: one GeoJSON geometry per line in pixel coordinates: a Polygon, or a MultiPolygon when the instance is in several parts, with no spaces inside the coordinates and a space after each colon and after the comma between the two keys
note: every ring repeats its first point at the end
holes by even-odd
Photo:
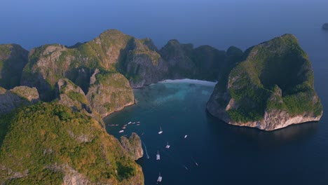
{"type": "Polygon", "coordinates": [[[310,61],[294,36],[280,36],[245,53],[245,61],[228,76],[228,92],[239,105],[228,111],[233,121],[259,121],[273,109],[291,116],[322,113],[310,61]]]}

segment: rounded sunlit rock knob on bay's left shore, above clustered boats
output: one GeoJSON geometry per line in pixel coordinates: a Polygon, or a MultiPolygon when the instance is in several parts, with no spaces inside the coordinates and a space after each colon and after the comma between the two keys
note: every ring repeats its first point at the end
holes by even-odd
{"type": "Polygon", "coordinates": [[[133,90],[128,80],[119,73],[95,74],[97,79],[86,95],[91,107],[105,117],[114,111],[135,104],[133,90]]]}

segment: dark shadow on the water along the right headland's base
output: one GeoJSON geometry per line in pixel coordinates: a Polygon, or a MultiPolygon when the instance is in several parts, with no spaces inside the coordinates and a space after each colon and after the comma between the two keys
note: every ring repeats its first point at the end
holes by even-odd
{"type": "Polygon", "coordinates": [[[259,150],[274,150],[289,144],[303,142],[304,139],[315,135],[319,124],[318,122],[300,123],[279,130],[264,131],[257,128],[228,125],[209,113],[207,113],[207,120],[211,130],[214,130],[213,132],[221,130],[226,135],[240,137],[242,142],[247,142],[252,148],[259,150]]]}

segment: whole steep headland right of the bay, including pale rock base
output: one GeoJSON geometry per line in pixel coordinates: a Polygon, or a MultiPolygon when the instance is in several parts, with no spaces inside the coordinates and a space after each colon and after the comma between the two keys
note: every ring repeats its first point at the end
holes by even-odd
{"type": "Polygon", "coordinates": [[[294,36],[249,48],[244,59],[216,85],[207,102],[210,114],[261,130],[320,120],[313,70],[294,36]]]}

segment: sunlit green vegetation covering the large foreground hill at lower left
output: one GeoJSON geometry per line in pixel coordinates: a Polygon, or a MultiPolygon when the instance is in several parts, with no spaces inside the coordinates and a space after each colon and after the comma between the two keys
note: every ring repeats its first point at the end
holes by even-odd
{"type": "Polygon", "coordinates": [[[1,183],[62,184],[74,169],[91,182],[118,184],[141,168],[93,118],[55,103],[1,115],[1,183]],[[8,132],[6,132],[8,130],[8,132]],[[18,175],[20,174],[20,175],[18,175]],[[15,176],[14,176],[15,175],[15,176]]]}

